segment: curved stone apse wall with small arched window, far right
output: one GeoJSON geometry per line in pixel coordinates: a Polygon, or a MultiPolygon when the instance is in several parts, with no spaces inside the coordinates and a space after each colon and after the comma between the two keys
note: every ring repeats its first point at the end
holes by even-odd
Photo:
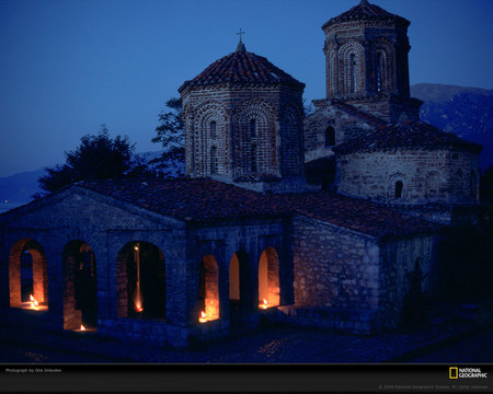
{"type": "Polygon", "coordinates": [[[348,153],[337,157],[336,169],[339,193],[381,202],[470,204],[479,194],[478,154],[466,150],[348,153]]]}

